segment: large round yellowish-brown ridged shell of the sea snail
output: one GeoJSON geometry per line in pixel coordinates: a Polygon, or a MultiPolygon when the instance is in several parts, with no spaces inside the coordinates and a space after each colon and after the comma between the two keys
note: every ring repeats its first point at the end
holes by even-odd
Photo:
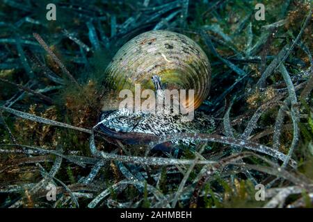
{"type": "MultiPolygon", "coordinates": [[[[155,75],[166,89],[194,89],[193,101],[191,96],[180,101],[187,111],[201,105],[211,84],[211,67],[204,51],[189,37],[172,31],[148,31],[134,37],[118,50],[105,73],[106,86],[114,89],[117,97],[122,89],[134,91],[135,84],[141,84],[141,90],[154,90],[151,79],[155,75]]],[[[118,103],[110,105],[110,109],[118,109],[118,103]]]]}

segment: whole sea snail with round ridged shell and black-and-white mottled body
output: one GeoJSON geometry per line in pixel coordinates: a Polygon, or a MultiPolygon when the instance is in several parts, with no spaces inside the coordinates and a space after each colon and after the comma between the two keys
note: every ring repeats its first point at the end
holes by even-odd
{"type": "MultiPolygon", "coordinates": [[[[209,60],[193,40],[171,31],[148,31],[127,42],[115,54],[106,68],[106,87],[113,89],[115,101],[120,101],[118,92],[135,85],[141,89],[193,89],[193,96],[180,99],[187,112],[193,112],[207,98],[211,85],[209,60]],[[159,82],[156,82],[156,80],[159,82]]],[[[111,94],[111,97],[114,96],[111,94]]],[[[112,99],[110,99],[112,101],[112,99]]],[[[197,133],[214,126],[210,117],[195,112],[193,121],[182,121],[182,114],[165,112],[131,112],[119,109],[118,103],[104,101],[100,126],[122,133],[197,133]]]]}

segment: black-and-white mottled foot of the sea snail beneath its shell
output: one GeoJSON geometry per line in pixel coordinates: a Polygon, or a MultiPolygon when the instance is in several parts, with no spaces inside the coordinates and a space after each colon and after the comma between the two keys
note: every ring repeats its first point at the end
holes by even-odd
{"type": "MultiPolygon", "coordinates": [[[[195,112],[193,121],[182,122],[181,119],[182,114],[111,110],[102,112],[99,117],[99,128],[108,137],[120,139],[126,144],[150,144],[162,135],[209,133],[215,128],[214,119],[202,112],[195,112]]],[[[170,151],[175,144],[179,144],[179,141],[159,144],[154,147],[154,150],[170,151]]],[[[197,142],[183,139],[182,144],[193,146],[197,142]]]]}

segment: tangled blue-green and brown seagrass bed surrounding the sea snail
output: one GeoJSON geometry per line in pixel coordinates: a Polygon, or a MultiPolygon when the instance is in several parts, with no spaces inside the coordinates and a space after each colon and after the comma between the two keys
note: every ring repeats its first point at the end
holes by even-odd
{"type": "Polygon", "coordinates": [[[60,0],[49,21],[51,2],[0,1],[0,207],[313,206],[310,1],[60,0]],[[106,67],[152,30],[206,53],[198,111],[213,129],[112,137],[94,127],[114,93],[106,67]],[[182,139],[197,143],[154,149],[182,139]]]}

